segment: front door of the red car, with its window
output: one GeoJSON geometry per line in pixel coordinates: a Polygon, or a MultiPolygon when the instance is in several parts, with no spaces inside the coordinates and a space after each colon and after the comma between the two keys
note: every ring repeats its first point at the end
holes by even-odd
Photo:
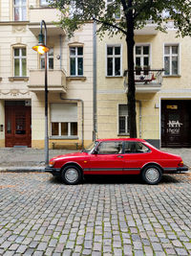
{"type": "Polygon", "coordinates": [[[93,175],[122,174],[124,159],[122,141],[103,141],[91,154],[90,171],[93,175]]]}

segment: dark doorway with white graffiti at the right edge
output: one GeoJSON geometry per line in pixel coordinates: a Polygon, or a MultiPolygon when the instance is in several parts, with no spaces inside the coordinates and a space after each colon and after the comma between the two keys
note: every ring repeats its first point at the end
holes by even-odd
{"type": "Polygon", "coordinates": [[[191,147],[191,101],[161,101],[161,147],[191,147]]]}

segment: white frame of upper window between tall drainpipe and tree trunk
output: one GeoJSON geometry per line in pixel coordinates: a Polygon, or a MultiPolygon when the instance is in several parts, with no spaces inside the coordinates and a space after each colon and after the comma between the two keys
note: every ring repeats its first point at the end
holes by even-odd
{"type": "Polygon", "coordinates": [[[112,77],[121,77],[122,76],[122,44],[106,44],[106,77],[112,78],[112,77]],[[107,49],[108,47],[113,48],[113,54],[108,55],[107,54],[107,49]],[[115,47],[120,47],[120,55],[115,55],[115,47]],[[113,72],[112,75],[108,75],[108,58],[113,58],[113,72]],[[115,75],[115,59],[120,58],[120,74],[115,75]]]}

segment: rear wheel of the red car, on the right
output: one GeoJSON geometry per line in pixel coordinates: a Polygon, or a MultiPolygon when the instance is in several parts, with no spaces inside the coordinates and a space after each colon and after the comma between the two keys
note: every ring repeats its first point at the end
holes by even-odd
{"type": "Polygon", "coordinates": [[[156,165],[149,165],[142,170],[142,179],[149,185],[157,185],[162,177],[161,169],[156,165]]]}

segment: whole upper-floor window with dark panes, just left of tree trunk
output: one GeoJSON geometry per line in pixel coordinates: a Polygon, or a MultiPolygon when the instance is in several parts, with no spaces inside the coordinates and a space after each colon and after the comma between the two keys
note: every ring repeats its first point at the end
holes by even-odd
{"type": "Polygon", "coordinates": [[[121,47],[107,46],[107,76],[121,76],[121,47]]]}

